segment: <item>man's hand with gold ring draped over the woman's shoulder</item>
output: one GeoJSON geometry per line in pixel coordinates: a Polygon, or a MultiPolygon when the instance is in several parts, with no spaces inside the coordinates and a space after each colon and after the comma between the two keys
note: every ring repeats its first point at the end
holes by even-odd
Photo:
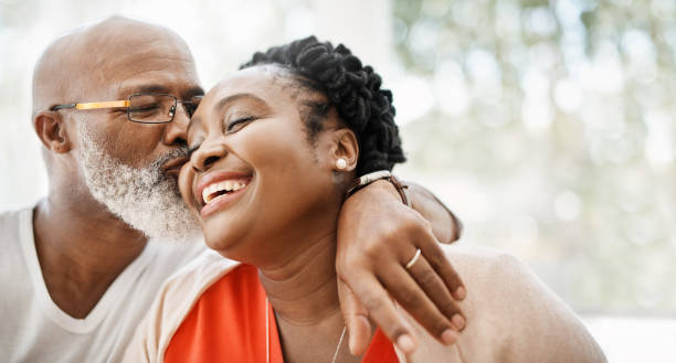
{"type": "MultiPolygon", "coordinates": [[[[412,197],[413,205],[439,203],[433,196],[412,197]]],[[[446,220],[454,223],[453,217],[446,220]]],[[[388,181],[377,181],[345,202],[338,218],[336,269],[355,355],[368,348],[369,319],[406,355],[415,350],[413,330],[392,299],[442,343],[455,343],[465,325],[456,301],[466,295],[462,279],[439,246],[432,225],[404,205],[388,181]],[[420,258],[406,269],[418,248],[420,258]]]]}

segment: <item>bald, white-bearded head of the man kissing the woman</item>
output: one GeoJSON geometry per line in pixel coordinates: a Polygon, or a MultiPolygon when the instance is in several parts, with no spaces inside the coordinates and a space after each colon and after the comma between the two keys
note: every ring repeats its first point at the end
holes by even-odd
{"type": "Polygon", "coordinates": [[[176,104],[167,124],[130,122],[126,107],[52,110],[136,94],[204,94],[188,45],[170,30],[115,17],[45,50],[33,76],[33,126],[50,199],[83,215],[105,209],[148,236],[186,236],[194,225],[175,174],[187,160],[191,108],[176,104]]]}

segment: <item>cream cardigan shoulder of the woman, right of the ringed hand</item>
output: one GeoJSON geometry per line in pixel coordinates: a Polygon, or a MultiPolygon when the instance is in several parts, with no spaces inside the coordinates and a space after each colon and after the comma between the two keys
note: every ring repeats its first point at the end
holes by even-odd
{"type": "MultiPolygon", "coordinates": [[[[517,257],[467,244],[447,246],[445,253],[467,288],[460,303],[467,325],[456,345],[437,348],[446,356],[457,362],[605,362],[578,316],[517,257]]],[[[424,341],[429,352],[440,345],[424,341]]]]}

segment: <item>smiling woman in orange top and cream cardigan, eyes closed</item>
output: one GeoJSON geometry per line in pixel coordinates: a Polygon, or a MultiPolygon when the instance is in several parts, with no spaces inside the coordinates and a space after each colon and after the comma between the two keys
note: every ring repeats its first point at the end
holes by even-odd
{"type": "MultiPolygon", "coordinates": [[[[175,276],[128,360],[603,362],[579,319],[520,263],[466,247],[448,252],[473,289],[461,335],[437,341],[409,319],[421,340],[414,354],[380,331],[362,357],[349,354],[336,221],[356,177],[403,161],[391,99],[371,67],[314,38],[257,53],[210,90],[179,183],[208,246],[244,264],[212,254],[175,276]]],[[[392,278],[427,264],[412,256],[392,278]]]]}

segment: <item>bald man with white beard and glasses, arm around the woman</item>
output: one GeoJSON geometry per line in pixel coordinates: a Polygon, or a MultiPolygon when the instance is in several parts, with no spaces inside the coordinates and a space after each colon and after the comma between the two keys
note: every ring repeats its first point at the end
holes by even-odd
{"type": "MultiPolygon", "coordinates": [[[[186,43],[138,21],[112,18],[44,52],[34,70],[32,120],[49,195],[0,214],[6,361],[119,361],[162,281],[202,253],[201,243],[167,243],[193,239],[176,175],[202,94],[186,43]],[[138,117],[142,97],[168,103],[168,116],[138,117]]],[[[341,211],[337,268],[355,353],[368,342],[367,317],[400,349],[415,348],[390,296],[442,341],[444,331],[464,325],[453,302],[464,298],[462,281],[435,244],[435,235],[457,237],[455,220],[424,190],[411,194],[420,214],[388,181],[367,185],[341,211]],[[391,281],[415,248],[426,264],[409,270],[410,281],[391,281]]]]}

